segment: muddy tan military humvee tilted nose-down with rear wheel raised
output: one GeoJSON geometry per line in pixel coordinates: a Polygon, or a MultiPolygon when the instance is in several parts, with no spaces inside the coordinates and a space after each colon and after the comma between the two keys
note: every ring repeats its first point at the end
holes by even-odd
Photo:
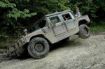
{"type": "Polygon", "coordinates": [[[9,48],[10,54],[20,54],[27,49],[33,58],[42,58],[49,52],[51,44],[68,39],[72,35],[88,38],[90,19],[87,15],[75,16],[71,10],[45,15],[37,21],[21,39],[9,48]]]}

